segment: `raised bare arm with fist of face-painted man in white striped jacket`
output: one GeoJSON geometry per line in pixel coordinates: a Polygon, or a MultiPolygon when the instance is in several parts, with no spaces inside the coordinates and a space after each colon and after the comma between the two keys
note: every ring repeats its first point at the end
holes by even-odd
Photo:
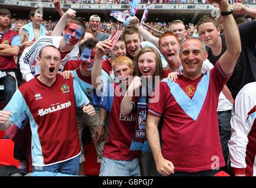
{"type": "Polygon", "coordinates": [[[54,28],[54,31],[52,31],[51,36],[61,36],[64,25],[67,23],[69,19],[74,18],[75,14],[76,14],[76,11],[69,8],[68,11],[66,11],[64,15],[61,16],[61,19],[59,19],[58,23],[54,28]]]}

